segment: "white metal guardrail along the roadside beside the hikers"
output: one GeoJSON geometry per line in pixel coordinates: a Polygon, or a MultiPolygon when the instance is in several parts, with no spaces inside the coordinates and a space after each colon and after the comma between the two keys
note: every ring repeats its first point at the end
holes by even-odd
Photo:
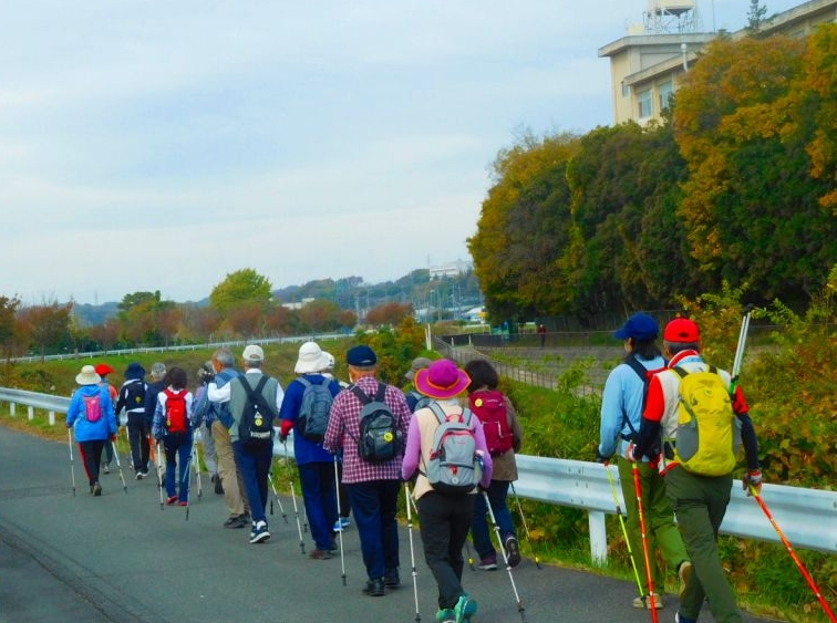
{"type": "MultiPolygon", "coordinates": [[[[0,387],[0,403],[9,403],[12,415],[17,405],[25,406],[30,419],[34,417],[35,408],[45,409],[50,414],[50,424],[54,425],[55,414],[66,413],[70,398],[0,387]]],[[[277,438],[273,455],[285,456],[285,453],[286,447],[277,438]]],[[[289,457],[293,456],[292,443],[288,444],[287,453],[289,457]]],[[[519,479],[515,490],[521,498],[587,510],[590,554],[593,561],[603,563],[608,551],[604,517],[616,512],[606,468],[581,460],[517,455],[517,469],[519,479]]],[[[616,467],[608,469],[618,480],[616,467]]],[[[620,489],[617,487],[621,499],[620,489]]],[[[837,491],[765,484],[762,498],[796,548],[837,553],[837,491]]],[[[624,508],[623,499],[621,503],[624,508]]],[[[745,539],[779,542],[758,505],[745,496],[740,480],[733,482],[732,499],[721,531],[745,539]]]]}

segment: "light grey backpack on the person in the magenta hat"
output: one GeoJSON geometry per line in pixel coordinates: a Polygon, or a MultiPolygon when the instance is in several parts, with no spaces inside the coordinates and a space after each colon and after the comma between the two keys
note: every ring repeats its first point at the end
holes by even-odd
{"type": "Polygon", "coordinates": [[[476,454],[473,414],[469,408],[464,408],[459,416],[446,415],[436,403],[430,408],[438,427],[433,434],[433,449],[424,466],[424,475],[440,494],[469,494],[483,476],[483,466],[476,454]]]}

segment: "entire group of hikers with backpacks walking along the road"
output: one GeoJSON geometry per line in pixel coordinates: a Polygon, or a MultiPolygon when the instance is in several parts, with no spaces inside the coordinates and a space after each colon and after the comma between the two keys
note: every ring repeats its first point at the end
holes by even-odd
{"type": "MultiPolygon", "coordinates": [[[[632,605],[651,610],[654,621],[665,605],[659,550],[680,581],[678,623],[695,623],[704,601],[719,623],[738,623],[716,539],[738,444],[746,453],[744,488],[747,495],[761,489],[748,407],[736,380],[701,357],[696,323],[670,322],[662,350],[659,332],[653,318],[638,313],[613,334],[627,354],[606,382],[596,450],[606,467],[616,457],[627,526],[618,501],[617,509],[639,589],[632,605]]],[[[113,446],[116,415],[124,411],[135,477],[148,475],[149,451],[161,445],[161,503],[165,488],[166,503],[188,506],[193,433],[199,428],[207,468],[229,511],[224,527],[249,525],[249,542],[265,542],[276,427],[286,458],[292,433],[314,542],[309,558],[332,558],[351,511],[368,578],[363,593],[383,596],[401,584],[396,507],[402,486],[409,517],[412,509],[418,517],[425,561],[437,584],[436,621],[462,623],[477,611],[462,584],[468,533],[479,569],[495,570],[502,562],[510,577],[520,550],[506,498],[517,479],[523,428],[489,362],[475,359],[458,367],[451,360],[418,357],[404,375],[404,388],[378,378],[378,357],[366,345],[345,353],[348,382],[334,377],[334,357],[316,342],[300,346],[297,376],[287,388],[262,371],[265,353],[256,344],[241,354],[242,372],[235,363],[228,349],[216,350],[197,373],[200,386],[194,395],[179,367],[155,364],[146,383],[145,371],[132,363],[114,391],[105,378],[110,366],[84,366],[66,424],[75,429],[91,494],[102,492],[102,451],[113,446]]],[[[304,552],[301,530],[299,536],[304,552]]]]}

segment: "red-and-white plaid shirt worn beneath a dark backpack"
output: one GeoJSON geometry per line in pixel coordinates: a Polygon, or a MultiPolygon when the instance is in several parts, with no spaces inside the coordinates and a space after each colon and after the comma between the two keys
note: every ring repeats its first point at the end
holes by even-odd
{"type": "MultiPolygon", "coordinates": [[[[368,396],[378,393],[378,380],[374,376],[363,376],[355,383],[368,396]]],[[[410,426],[410,407],[407,407],[404,393],[397,387],[386,385],[384,403],[399,422],[404,439],[406,439],[410,426]]],[[[369,463],[363,460],[358,450],[360,438],[360,412],[363,405],[360,398],[352,392],[340,392],[331,404],[329,427],[326,429],[323,447],[337,453],[343,450],[343,484],[369,482],[371,480],[401,480],[402,454],[385,463],[369,463]]]]}

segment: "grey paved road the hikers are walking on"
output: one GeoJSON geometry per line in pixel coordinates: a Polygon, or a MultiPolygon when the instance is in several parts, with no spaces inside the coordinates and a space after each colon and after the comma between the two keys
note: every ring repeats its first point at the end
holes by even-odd
{"type": "MultiPolygon", "coordinates": [[[[313,561],[301,554],[290,498],[281,498],[289,522],[277,508],[269,518],[272,538],[251,546],[244,530],[221,527],[223,497],[206,485],[186,521],[185,509],[161,511],[153,479],[135,481],[130,471],[127,495],[112,473],[103,476],[103,496],[90,496],[78,454],[75,459],[73,497],[66,444],[0,427],[0,623],[416,620],[405,528],[402,586],[368,598],[361,593],[365,574],[356,531],[345,532],[343,585],[339,555],[313,561]]],[[[421,621],[432,623],[435,584],[417,530],[414,537],[421,621]]],[[[312,548],[307,538],[306,550],[312,548]]],[[[631,582],[548,565],[538,570],[527,560],[514,579],[528,622],[650,621],[649,613],[629,605],[631,582]]],[[[464,581],[479,603],[475,622],[520,621],[505,571],[466,569],[464,581]]],[[[666,598],[666,605],[660,621],[674,619],[676,600],[666,598]]]]}

